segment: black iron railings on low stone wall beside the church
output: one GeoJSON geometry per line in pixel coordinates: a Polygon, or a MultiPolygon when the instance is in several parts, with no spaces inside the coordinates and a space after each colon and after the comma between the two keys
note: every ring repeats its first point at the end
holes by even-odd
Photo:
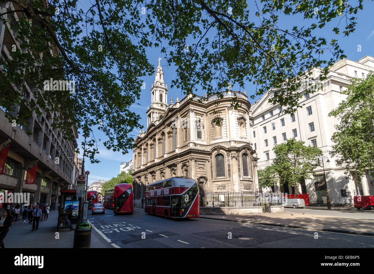
{"type": "Polygon", "coordinates": [[[274,192],[200,192],[200,207],[281,206],[282,194],[274,192]]]}

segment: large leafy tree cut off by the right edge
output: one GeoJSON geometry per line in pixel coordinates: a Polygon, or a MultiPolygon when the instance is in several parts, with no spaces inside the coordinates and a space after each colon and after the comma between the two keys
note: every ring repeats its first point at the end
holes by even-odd
{"type": "Polygon", "coordinates": [[[338,119],[330,155],[336,164],[346,168],[347,177],[354,171],[363,176],[365,169],[374,173],[374,73],[367,78],[352,78],[343,94],[346,100],[329,113],[338,119]]]}

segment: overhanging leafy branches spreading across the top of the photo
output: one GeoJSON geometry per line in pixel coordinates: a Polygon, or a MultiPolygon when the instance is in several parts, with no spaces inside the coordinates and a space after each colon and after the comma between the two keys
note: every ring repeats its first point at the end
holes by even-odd
{"type": "MultiPolygon", "coordinates": [[[[34,112],[50,109],[57,113],[52,127],[68,140],[72,125],[86,135],[97,127],[107,138],[104,146],[123,153],[132,148],[134,128],[142,128],[128,106],[140,99],[144,77],[154,73],[146,48],[160,47],[168,65],[177,67],[171,88],[191,94],[202,87],[208,97],[222,96],[222,89],[244,88],[248,80],[256,85],[252,98],[276,88],[270,101],[291,112],[303,94],[300,81],[310,76],[304,71],[345,57],[337,40],[315,34],[322,27],[340,34],[343,27],[348,36],[355,30],[353,14],[363,8],[363,0],[254,0],[252,6],[236,0],[10,2],[15,10],[0,14],[19,40],[9,51],[12,58],[0,60],[0,105],[9,121],[28,124],[34,112]],[[305,25],[282,28],[285,16],[305,25]],[[74,80],[74,92],[47,90],[51,78],[74,80]]],[[[98,162],[97,141],[88,142],[87,156],[98,162]]]]}

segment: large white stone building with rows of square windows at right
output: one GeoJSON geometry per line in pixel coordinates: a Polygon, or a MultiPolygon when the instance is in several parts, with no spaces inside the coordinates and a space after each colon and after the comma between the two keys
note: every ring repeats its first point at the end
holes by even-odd
{"type": "MultiPolygon", "coordinates": [[[[306,93],[300,99],[302,107],[297,108],[293,115],[285,114],[282,107],[268,102],[272,97],[273,89],[266,92],[263,97],[252,104],[251,115],[254,116],[254,126],[251,129],[251,138],[258,158],[258,168],[264,168],[275,158],[273,146],[282,143],[288,138],[295,137],[304,141],[306,145],[319,147],[324,156],[329,158],[325,163],[326,181],[329,198],[332,204],[350,205],[353,196],[373,195],[373,178],[366,176],[358,180],[347,180],[344,168],[335,165],[335,159],[329,156],[337,120],[329,117],[328,113],[335,109],[347,95],[341,94],[350,84],[352,77],[364,78],[370,70],[374,70],[374,58],[365,56],[357,62],[343,59],[337,61],[329,70],[326,80],[322,82],[323,89],[313,94],[306,93]]],[[[319,69],[313,70],[313,77],[319,75],[319,69]]],[[[325,160],[327,160],[325,158],[325,160]]],[[[314,180],[301,182],[299,193],[309,194],[311,204],[326,203],[326,190],[323,169],[316,168],[317,176],[314,180]]],[[[288,186],[275,186],[275,191],[293,194],[294,188],[288,186]]]]}

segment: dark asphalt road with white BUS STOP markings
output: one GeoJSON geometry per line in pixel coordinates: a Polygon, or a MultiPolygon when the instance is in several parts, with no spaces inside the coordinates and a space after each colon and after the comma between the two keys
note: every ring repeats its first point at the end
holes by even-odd
{"type": "Polygon", "coordinates": [[[130,247],[374,247],[374,237],[208,220],[170,220],[134,210],[130,215],[89,212],[90,222],[122,248],[130,247]],[[318,236],[318,238],[316,238],[318,236]],[[239,237],[252,238],[240,240],[239,237]]]}

